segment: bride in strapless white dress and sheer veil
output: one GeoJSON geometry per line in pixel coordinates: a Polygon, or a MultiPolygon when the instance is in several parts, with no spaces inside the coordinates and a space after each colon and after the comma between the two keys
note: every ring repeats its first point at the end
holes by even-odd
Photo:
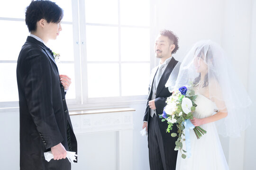
{"type": "Polygon", "coordinates": [[[218,44],[197,42],[167,81],[170,92],[184,85],[195,91],[197,107],[191,122],[207,131],[200,139],[190,131],[191,156],[183,159],[179,152],[176,170],[229,170],[219,134],[239,136],[250,124],[251,103],[230,64],[218,44]]]}

